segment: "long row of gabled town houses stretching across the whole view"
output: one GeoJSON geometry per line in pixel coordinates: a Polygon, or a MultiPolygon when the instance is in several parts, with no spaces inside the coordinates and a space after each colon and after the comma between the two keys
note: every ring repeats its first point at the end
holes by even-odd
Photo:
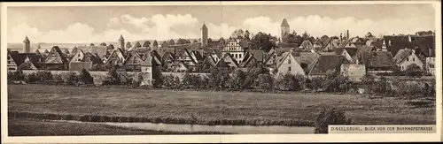
{"type": "Polygon", "coordinates": [[[78,46],[70,51],[54,46],[42,52],[37,49],[35,53],[8,50],[8,69],[21,66],[33,70],[100,71],[94,67],[119,65],[125,71],[136,72],[209,72],[213,67],[247,70],[263,66],[276,75],[289,72],[315,77],[341,70],[350,77],[359,77],[366,72],[405,70],[408,65],[417,64],[434,73],[434,57],[427,57],[416,49],[400,49],[392,57],[392,52],[385,49],[385,42],[376,46],[377,40],[363,44],[360,40],[358,37],[328,38],[315,44],[304,41],[298,47],[277,47],[269,51],[249,49],[249,42],[238,39],[229,39],[222,47],[219,42],[209,42],[206,49],[201,49],[200,43],[130,49],[78,46]]]}

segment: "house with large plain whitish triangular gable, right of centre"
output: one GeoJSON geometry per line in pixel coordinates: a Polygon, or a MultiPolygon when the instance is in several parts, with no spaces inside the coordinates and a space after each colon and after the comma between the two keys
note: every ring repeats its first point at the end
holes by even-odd
{"type": "Polygon", "coordinates": [[[286,73],[305,76],[305,71],[297,62],[294,54],[294,52],[285,52],[283,54],[283,57],[276,64],[276,76],[286,73]]]}

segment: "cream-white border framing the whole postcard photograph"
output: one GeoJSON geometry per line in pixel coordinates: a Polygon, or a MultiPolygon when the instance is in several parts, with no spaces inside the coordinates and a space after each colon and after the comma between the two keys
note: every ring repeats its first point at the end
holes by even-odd
{"type": "Polygon", "coordinates": [[[102,3],[0,3],[1,14],[1,113],[2,143],[219,143],[219,142],[338,142],[338,141],[440,141],[442,132],[442,96],[441,96],[441,2],[439,1],[298,1],[298,2],[102,2],[102,3]],[[7,136],[7,82],[6,82],[6,7],[11,6],[139,6],[139,5],[261,5],[261,4],[434,4],[436,21],[436,80],[437,133],[370,133],[370,134],[236,134],[236,135],[146,135],[146,136],[44,136],[44,137],[8,137],[7,136]]]}

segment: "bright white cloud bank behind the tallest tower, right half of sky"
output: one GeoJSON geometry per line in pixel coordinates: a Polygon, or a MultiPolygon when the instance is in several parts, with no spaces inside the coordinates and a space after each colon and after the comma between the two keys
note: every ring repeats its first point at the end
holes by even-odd
{"type": "MultiPolygon", "coordinates": [[[[318,15],[310,15],[307,17],[295,17],[287,19],[291,27],[291,32],[301,34],[305,31],[313,36],[339,35],[350,31],[351,36],[363,36],[368,32],[374,35],[380,34],[415,34],[417,31],[432,30],[434,24],[424,23],[424,21],[432,21],[433,18],[428,16],[413,17],[409,19],[355,19],[354,17],[330,19],[328,17],[320,17],[318,15]],[[430,20],[431,19],[431,20],[430,20]]],[[[265,32],[280,36],[281,20],[272,20],[268,17],[256,17],[245,19],[244,28],[250,32],[265,32]]]]}

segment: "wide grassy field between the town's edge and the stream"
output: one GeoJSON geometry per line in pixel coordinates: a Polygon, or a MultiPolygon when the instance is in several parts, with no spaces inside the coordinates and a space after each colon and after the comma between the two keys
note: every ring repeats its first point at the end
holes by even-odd
{"type": "MultiPolygon", "coordinates": [[[[104,87],[8,86],[8,109],[61,115],[194,117],[198,121],[311,121],[324,107],[344,110],[354,124],[435,124],[435,105],[360,95],[284,95],[104,87]]],[[[204,124],[204,123],[201,123],[204,124]]]]}

